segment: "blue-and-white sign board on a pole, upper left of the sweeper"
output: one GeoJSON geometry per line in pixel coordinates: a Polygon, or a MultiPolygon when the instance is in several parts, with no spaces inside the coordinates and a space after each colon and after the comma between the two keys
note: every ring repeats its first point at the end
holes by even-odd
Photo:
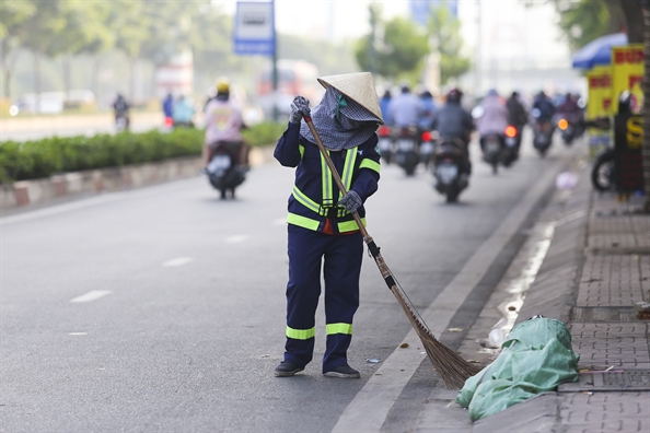
{"type": "Polygon", "coordinates": [[[276,50],[274,2],[239,1],[233,31],[236,55],[272,56],[276,50]]]}

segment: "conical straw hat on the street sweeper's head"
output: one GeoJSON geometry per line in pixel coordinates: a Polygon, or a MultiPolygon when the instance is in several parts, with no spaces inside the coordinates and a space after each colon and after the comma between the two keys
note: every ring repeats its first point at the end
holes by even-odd
{"type": "Polygon", "coordinates": [[[383,125],[384,118],[370,72],[343,73],[340,75],[321,77],[317,80],[323,87],[333,86],[345,96],[363,106],[363,108],[380,119],[383,125]]]}

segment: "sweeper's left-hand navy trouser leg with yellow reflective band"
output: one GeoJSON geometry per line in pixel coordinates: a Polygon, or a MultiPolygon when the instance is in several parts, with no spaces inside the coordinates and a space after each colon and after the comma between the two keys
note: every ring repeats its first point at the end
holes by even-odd
{"type": "Polygon", "coordinates": [[[320,232],[288,224],[287,343],[285,361],[304,366],[313,358],[321,262],[326,238],[320,232]]]}

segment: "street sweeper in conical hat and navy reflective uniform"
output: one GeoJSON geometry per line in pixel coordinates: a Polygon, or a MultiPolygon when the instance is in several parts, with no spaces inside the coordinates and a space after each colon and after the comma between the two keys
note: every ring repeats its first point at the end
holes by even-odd
{"type": "Polygon", "coordinates": [[[326,343],[322,371],[326,376],[358,378],[359,372],[347,359],[363,255],[363,238],[352,212],[365,224],[363,203],[376,191],[380,178],[375,131],[383,118],[370,73],[323,77],[318,82],[326,89],[323,100],[313,109],[304,97],[293,100],[289,125],[274,153],[283,166],[295,167],[287,216],[287,342],[275,375],[293,376],[313,359],[323,267],[326,343]],[[313,119],[348,191],[345,196],[303,116],[313,119]]]}

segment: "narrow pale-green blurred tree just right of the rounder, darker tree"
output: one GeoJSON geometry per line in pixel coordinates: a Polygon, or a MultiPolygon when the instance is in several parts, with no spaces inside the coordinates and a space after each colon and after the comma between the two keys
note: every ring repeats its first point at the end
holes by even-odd
{"type": "Polygon", "coordinates": [[[428,28],[432,49],[440,54],[440,83],[446,84],[450,79],[467,72],[471,62],[467,57],[461,56],[461,22],[446,5],[431,10],[428,28]]]}

